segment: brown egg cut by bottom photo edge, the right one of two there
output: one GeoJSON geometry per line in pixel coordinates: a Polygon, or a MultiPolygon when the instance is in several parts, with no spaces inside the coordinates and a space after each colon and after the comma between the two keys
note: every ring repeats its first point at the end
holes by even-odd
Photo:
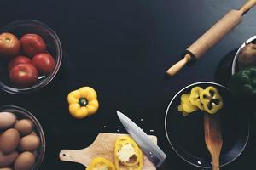
{"type": "Polygon", "coordinates": [[[23,152],[15,161],[15,170],[30,170],[35,164],[35,156],[31,152],[23,152]]]}

